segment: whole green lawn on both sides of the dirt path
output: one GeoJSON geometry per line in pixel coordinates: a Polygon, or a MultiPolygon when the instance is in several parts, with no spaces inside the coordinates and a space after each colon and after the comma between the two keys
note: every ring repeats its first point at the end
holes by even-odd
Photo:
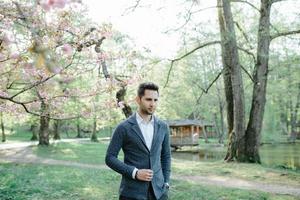
{"type": "MultiPolygon", "coordinates": [[[[43,158],[104,165],[107,142],[57,143],[32,147],[43,158]]],[[[300,187],[300,173],[254,164],[172,160],[175,175],[235,177],[244,180],[300,187]]],[[[42,164],[0,164],[0,199],[118,199],[120,175],[112,170],[42,164]]],[[[171,178],[171,200],[292,200],[296,197],[259,191],[209,186],[171,178]]]]}

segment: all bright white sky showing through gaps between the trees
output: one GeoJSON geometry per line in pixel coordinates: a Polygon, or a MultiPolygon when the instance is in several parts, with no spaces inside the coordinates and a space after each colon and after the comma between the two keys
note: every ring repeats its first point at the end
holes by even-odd
{"type": "MultiPolygon", "coordinates": [[[[177,32],[165,34],[166,30],[178,27],[183,23],[178,19],[184,11],[184,0],[140,0],[134,11],[127,8],[135,5],[137,0],[82,0],[89,8],[90,17],[97,23],[112,23],[113,27],[122,33],[128,34],[139,47],[149,48],[153,55],[163,58],[174,58],[179,50],[180,35],[177,32]],[[150,3],[148,3],[150,2],[150,3]]],[[[273,5],[273,12],[280,12],[281,19],[289,21],[292,13],[299,15],[299,0],[289,0],[273,5]],[[291,6],[292,5],[292,6],[291,6]],[[288,11],[288,12],[286,12],[288,11]]],[[[216,1],[195,1],[198,6],[206,8],[215,6],[216,1]]],[[[253,1],[259,5],[259,1],[253,1]]],[[[247,5],[245,5],[247,6],[247,5]]],[[[259,7],[259,6],[258,6],[259,7]]],[[[187,8],[186,8],[187,9],[187,8]]],[[[249,7],[250,9],[250,7],[249,7]]],[[[215,9],[208,9],[197,14],[201,21],[208,21],[216,17],[215,9]]],[[[218,28],[218,27],[215,27],[218,28]]]]}

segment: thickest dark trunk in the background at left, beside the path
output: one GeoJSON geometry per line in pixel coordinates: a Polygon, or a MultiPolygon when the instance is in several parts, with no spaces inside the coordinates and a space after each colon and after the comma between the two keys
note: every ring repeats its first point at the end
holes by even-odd
{"type": "Polygon", "coordinates": [[[45,101],[41,101],[41,116],[39,130],[39,145],[49,145],[49,105],[45,101]]]}

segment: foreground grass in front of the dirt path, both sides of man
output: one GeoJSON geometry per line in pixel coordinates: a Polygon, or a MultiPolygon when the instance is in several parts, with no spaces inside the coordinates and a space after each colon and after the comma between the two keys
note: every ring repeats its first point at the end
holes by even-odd
{"type": "MultiPolygon", "coordinates": [[[[120,176],[110,170],[47,165],[0,165],[2,200],[114,200],[120,176]]],[[[172,181],[172,200],[292,200],[286,195],[172,181]]]]}

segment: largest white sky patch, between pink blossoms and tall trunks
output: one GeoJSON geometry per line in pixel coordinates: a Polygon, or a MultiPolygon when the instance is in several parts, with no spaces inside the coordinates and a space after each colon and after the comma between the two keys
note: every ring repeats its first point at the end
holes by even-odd
{"type": "Polygon", "coordinates": [[[170,25],[176,24],[180,5],[175,0],[141,1],[141,6],[133,12],[126,9],[135,5],[135,0],[84,0],[90,17],[97,23],[111,22],[113,27],[131,36],[140,47],[147,47],[156,56],[172,58],[178,50],[179,34],[164,34],[170,25]],[[161,2],[164,2],[162,7],[161,2]],[[160,8],[160,9],[159,9],[160,8]]]}

